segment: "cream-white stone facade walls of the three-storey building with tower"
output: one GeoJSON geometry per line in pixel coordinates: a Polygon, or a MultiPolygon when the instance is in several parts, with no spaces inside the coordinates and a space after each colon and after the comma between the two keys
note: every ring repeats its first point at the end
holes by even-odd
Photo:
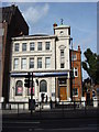
{"type": "MultiPolygon", "coordinates": [[[[11,55],[11,72],[12,73],[52,73],[52,72],[67,72],[68,77],[66,78],[66,94],[67,99],[70,97],[70,88],[69,88],[69,70],[70,70],[70,62],[69,62],[69,26],[59,25],[54,28],[54,35],[29,35],[29,36],[20,36],[12,38],[12,55],[11,55]],[[42,43],[42,50],[38,51],[38,42],[42,43]],[[26,50],[22,51],[22,44],[26,44],[26,50]],[[31,43],[33,43],[33,51],[30,50],[31,43]],[[48,43],[48,44],[46,44],[48,43]],[[16,47],[18,51],[15,51],[16,47]],[[47,45],[47,47],[46,47],[47,45]],[[30,68],[31,61],[31,68],[30,68]],[[38,63],[40,61],[40,63],[38,63]],[[38,68],[40,66],[40,68],[38,68]],[[42,66],[42,67],[41,67],[42,66]]],[[[41,44],[40,44],[41,45],[41,44]]],[[[25,48],[25,46],[24,46],[25,48]]],[[[41,46],[40,46],[41,48],[41,46]]],[[[47,101],[50,97],[54,101],[55,99],[59,99],[59,85],[57,85],[59,77],[44,77],[44,78],[33,78],[34,81],[34,96],[33,98],[37,101],[41,101],[41,94],[47,95],[47,101]],[[37,80],[37,82],[36,82],[37,80]],[[40,86],[41,81],[46,81],[46,90],[41,91],[40,86]]],[[[10,78],[10,98],[9,101],[29,101],[30,95],[28,95],[28,88],[24,87],[24,77],[11,77],[10,78]],[[22,89],[21,95],[16,95],[16,81],[21,80],[22,89]]],[[[64,85],[62,84],[62,87],[64,85]]],[[[64,86],[65,87],[65,86],[64,86]]],[[[46,99],[46,98],[45,98],[46,99]]],[[[63,99],[62,99],[63,100],[63,99]]]]}

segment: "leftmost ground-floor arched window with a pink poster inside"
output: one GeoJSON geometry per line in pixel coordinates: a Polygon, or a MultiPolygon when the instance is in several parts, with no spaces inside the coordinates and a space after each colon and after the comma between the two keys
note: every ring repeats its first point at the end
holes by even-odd
{"type": "Polygon", "coordinates": [[[23,82],[22,80],[18,80],[15,84],[15,96],[22,96],[23,92],[23,82]]]}

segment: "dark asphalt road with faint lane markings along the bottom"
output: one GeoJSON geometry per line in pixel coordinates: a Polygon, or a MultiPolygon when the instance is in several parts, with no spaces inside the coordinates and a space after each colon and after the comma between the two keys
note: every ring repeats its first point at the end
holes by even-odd
{"type": "Polygon", "coordinates": [[[98,132],[97,118],[4,120],[2,132],[98,132]]]}

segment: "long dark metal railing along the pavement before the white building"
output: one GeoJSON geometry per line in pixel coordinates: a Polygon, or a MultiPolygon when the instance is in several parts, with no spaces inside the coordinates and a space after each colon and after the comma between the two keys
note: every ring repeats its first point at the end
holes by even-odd
{"type": "MultiPolygon", "coordinates": [[[[31,113],[29,110],[29,102],[8,102],[8,103],[1,103],[2,107],[2,113],[31,113]]],[[[74,112],[79,113],[88,113],[98,111],[99,110],[99,100],[92,100],[92,101],[59,101],[59,102],[36,102],[35,109],[33,110],[33,116],[35,117],[45,117],[51,118],[51,114],[53,114],[53,118],[59,117],[59,118],[66,118],[68,114],[73,114],[74,112]],[[47,114],[48,113],[48,114],[47,114]]]]}

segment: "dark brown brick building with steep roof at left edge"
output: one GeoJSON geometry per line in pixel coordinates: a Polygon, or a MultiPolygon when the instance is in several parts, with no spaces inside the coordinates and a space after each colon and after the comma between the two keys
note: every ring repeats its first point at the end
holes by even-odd
{"type": "Polygon", "coordinates": [[[0,31],[2,34],[0,38],[2,43],[2,86],[0,88],[2,95],[1,97],[8,101],[9,98],[9,72],[10,72],[10,53],[11,53],[11,37],[20,36],[20,35],[28,35],[29,34],[29,26],[22,16],[18,7],[12,4],[11,7],[3,7],[0,8],[0,31]]]}

